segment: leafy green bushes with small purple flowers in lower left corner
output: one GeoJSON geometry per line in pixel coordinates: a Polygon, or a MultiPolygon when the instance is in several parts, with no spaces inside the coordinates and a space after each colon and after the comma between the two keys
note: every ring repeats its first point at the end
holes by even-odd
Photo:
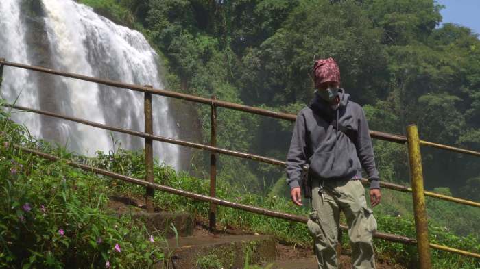
{"type": "Polygon", "coordinates": [[[163,261],[143,225],[106,210],[105,179],[64,159],[48,162],[16,149],[52,148],[26,136],[9,114],[0,112],[0,130],[1,268],[104,268],[107,262],[111,268],[146,268],[163,261]]]}

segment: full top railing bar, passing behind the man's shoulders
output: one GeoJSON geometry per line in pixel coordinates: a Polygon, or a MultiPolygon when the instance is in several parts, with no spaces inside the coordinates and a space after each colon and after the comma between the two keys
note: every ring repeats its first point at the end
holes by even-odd
{"type": "MultiPolygon", "coordinates": [[[[197,96],[192,95],[192,94],[184,94],[184,93],[180,93],[180,92],[173,92],[173,91],[170,91],[170,90],[152,89],[152,88],[147,88],[145,86],[139,86],[139,85],[135,85],[135,84],[127,84],[127,83],[123,83],[123,82],[120,82],[120,81],[113,81],[113,80],[110,80],[110,79],[99,79],[97,77],[89,77],[89,76],[79,75],[79,74],[75,74],[75,73],[56,71],[56,70],[53,70],[53,69],[44,68],[44,67],[40,67],[40,66],[29,66],[27,64],[19,64],[19,63],[16,63],[16,62],[8,62],[5,59],[0,59],[0,64],[5,64],[5,66],[12,66],[12,67],[16,67],[16,68],[29,69],[29,70],[32,70],[32,71],[49,73],[49,74],[53,74],[53,75],[60,75],[62,77],[71,77],[73,79],[81,79],[81,80],[84,80],[84,81],[91,81],[91,82],[95,82],[97,84],[104,84],[104,85],[107,85],[107,86],[113,86],[113,87],[117,87],[117,88],[136,90],[136,91],[139,91],[139,92],[150,92],[152,94],[158,94],[158,95],[161,95],[161,96],[172,97],[172,98],[182,99],[182,100],[186,100],[186,101],[193,101],[193,102],[205,103],[205,104],[213,104],[213,105],[216,105],[217,107],[226,107],[226,108],[230,108],[232,110],[239,110],[239,111],[243,111],[243,112],[249,112],[249,113],[252,113],[252,114],[269,116],[269,117],[272,117],[272,118],[279,118],[279,119],[290,120],[290,121],[295,121],[296,120],[296,115],[294,115],[294,114],[283,113],[283,112],[275,112],[275,111],[272,111],[272,110],[264,110],[264,109],[261,109],[261,108],[258,108],[258,107],[251,107],[251,106],[248,106],[248,105],[239,105],[237,103],[230,103],[230,102],[226,102],[226,101],[212,100],[212,99],[209,99],[209,98],[197,97],[197,96]]],[[[377,138],[377,139],[386,140],[386,141],[390,141],[390,142],[396,142],[396,143],[400,143],[400,144],[403,144],[403,143],[407,142],[407,138],[405,136],[400,136],[400,135],[396,135],[396,134],[392,134],[392,133],[384,133],[384,132],[381,132],[381,131],[370,131],[370,136],[372,136],[372,138],[377,138]]],[[[454,146],[446,146],[446,145],[436,144],[436,143],[427,142],[427,141],[420,141],[420,144],[422,144],[424,146],[433,146],[433,147],[440,148],[440,149],[447,149],[447,150],[456,151],[456,152],[459,152],[459,153],[465,153],[465,154],[480,156],[480,152],[478,152],[478,151],[470,151],[470,150],[466,150],[466,149],[459,149],[459,148],[454,147],[454,146]]]]}

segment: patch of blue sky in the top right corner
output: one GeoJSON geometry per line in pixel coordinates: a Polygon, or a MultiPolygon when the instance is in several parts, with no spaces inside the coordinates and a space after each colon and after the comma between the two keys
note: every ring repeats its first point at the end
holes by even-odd
{"type": "Polygon", "coordinates": [[[442,23],[457,23],[480,34],[480,0],[437,0],[445,5],[442,23]]]}

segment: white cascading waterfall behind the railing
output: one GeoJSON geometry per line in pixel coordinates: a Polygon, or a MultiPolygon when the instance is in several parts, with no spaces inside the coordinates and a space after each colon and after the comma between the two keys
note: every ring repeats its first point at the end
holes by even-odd
{"type": "MultiPolygon", "coordinates": [[[[19,0],[1,0],[0,57],[12,62],[29,61],[28,55],[35,51],[34,44],[25,41],[25,21],[20,12],[19,0]],[[23,33],[23,34],[22,34],[23,33]],[[15,38],[10,38],[15,36],[15,38]],[[5,43],[5,44],[4,44],[5,43]],[[19,53],[21,51],[21,53],[19,53]],[[16,55],[16,57],[14,57],[16,55]]],[[[93,77],[101,77],[131,84],[149,84],[154,88],[164,88],[158,66],[158,55],[138,31],[115,25],[107,18],[95,14],[91,8],[72,0],[41,0],[40,8],[45,51],[49,51],[49,68],[93,77]]],[[[38,19],[38,18],[37,18],[38,19]]],[[[27,29],[28,30],[28,29],[27,29]]],[[[45,62],[45,61],[43,61],[45,62]]],[[[38,64],[41,65],[41,64],[38,64]]],[[[19,89],[23,89],[19,103],[29,107],[42,107],[43,110],[84,118],[96,123],[143,131],[143,93],[101,86],[88,81],[67,77],[52,77],[49,87],[32,84],[29,72],[5,67],[3,97],[14,99],[19,89]],[[23,79],[18,78],[22,75],[23,79]],[[15,82],[16,81],[16,82],[15,82]],[[37,87],[38,86],[38,87],[37,87]],[[48,89],[46,89],[48,88],[48,89]]],[[[169,104],[164,97],[153,99],[154,134],[176,138],[175,121],[170,115],[169,104]]],[[[141,149],[143,139],[125,136],[88,125],[56,120],[52,128],[42,126],[44,121],[32,120],[32,116],[18,117],[32,130],[32,133],[47,140],[60,139],[70,149],[78,153],[93,155],[95,151],[109,151],[112,140],[119,140],[122,148],[141,149]],[[41,124],[40,124],[41,123],[41,124]],[[57,133],[53,136],[52,133],[57,133]]],[[[178,168],[178,146],[154,142],[154,154],[160,160],[178,168]]]]}

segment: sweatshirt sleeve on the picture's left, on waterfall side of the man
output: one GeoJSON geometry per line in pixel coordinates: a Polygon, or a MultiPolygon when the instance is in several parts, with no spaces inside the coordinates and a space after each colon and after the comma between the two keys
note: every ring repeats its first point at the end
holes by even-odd
{"type": "Polygon", "coordinates": [[[302,113],[299,113],[291,136],[290,149],[287,154],[287,183],[290,189],[299,187],[302,166],[307,162],[305,155],[305,122],[302,113]]]}

